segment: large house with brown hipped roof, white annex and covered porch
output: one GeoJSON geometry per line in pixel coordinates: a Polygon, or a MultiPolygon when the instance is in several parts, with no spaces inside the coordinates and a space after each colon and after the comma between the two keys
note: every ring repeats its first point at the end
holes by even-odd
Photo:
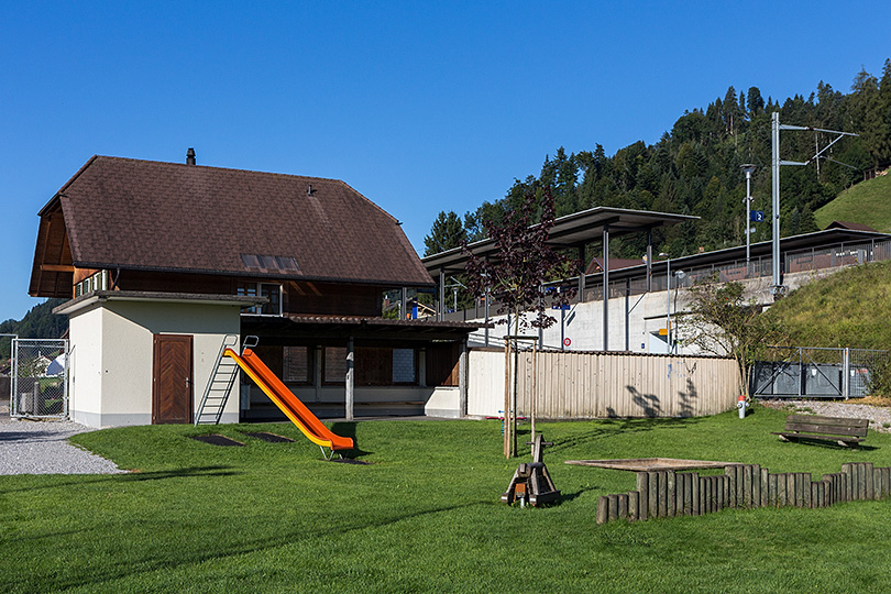
{"type": "MultiPolygon", "coordinates": [[[[94,156],[38,215],[29,293],[69,298],[78,422],[190,422],[221,345],[249,336],[317,415],[462,415],[480,324],[381,317],[384,292],[433,283],[343,182],[94,156]]],[[[284,418],[233,396],[224,422],[284,418]]]]}

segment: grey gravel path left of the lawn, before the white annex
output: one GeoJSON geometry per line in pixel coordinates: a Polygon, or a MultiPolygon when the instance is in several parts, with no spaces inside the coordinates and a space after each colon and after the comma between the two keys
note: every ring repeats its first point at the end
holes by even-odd
{"type": "Polygon", "coordinates": [[[68,443],[91,431],[70,421],[10,419],[0,408],[0,474],[114,474],[124,472],[110,460],[68,443]]]}

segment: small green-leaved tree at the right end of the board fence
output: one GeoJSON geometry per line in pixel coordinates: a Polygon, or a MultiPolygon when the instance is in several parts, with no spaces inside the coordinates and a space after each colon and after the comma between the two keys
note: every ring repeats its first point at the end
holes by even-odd
{"type": "Polygon", "coordinates": [[[721,283],[717,275],[693,285],[681,340],[707,353],[734,358],[740,394],[749,400],[755,362],[768,346],[785,342],[785,332],[754,300],[745,300],[743,290],[741,283],[721,283]]]}

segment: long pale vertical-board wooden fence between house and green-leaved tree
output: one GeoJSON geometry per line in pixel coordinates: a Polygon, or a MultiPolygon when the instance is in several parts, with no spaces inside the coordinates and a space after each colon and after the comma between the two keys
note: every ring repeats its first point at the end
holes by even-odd
{"type": "MultiPolygon", "coordinates": [[[[531,353],[520,353],[517,406],[530,415],[531,353]]],[[[735,361],[713,356],[616,352],[539,351],[536,417],[695,417],[736,406],[735,361]]],[[[470,353],[468,414],[497,416],[504,409],[504,351],[470,353]]]]}

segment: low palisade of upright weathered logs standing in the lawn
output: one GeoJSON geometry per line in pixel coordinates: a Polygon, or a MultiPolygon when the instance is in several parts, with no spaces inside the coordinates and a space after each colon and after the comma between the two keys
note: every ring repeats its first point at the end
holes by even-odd
{"type": "Polygon", "coordinates": [[[758,464],[734,464],[724,474],[638,472],[637,490],[602,495],[597,524],[678,516],[702,516],[725,508],[827,507],[840,502],[880,499],[891,495],[891,468],[872,462],[842,464],[842,472],[812,481],[809,472],[770,474],[758,464]]]}

